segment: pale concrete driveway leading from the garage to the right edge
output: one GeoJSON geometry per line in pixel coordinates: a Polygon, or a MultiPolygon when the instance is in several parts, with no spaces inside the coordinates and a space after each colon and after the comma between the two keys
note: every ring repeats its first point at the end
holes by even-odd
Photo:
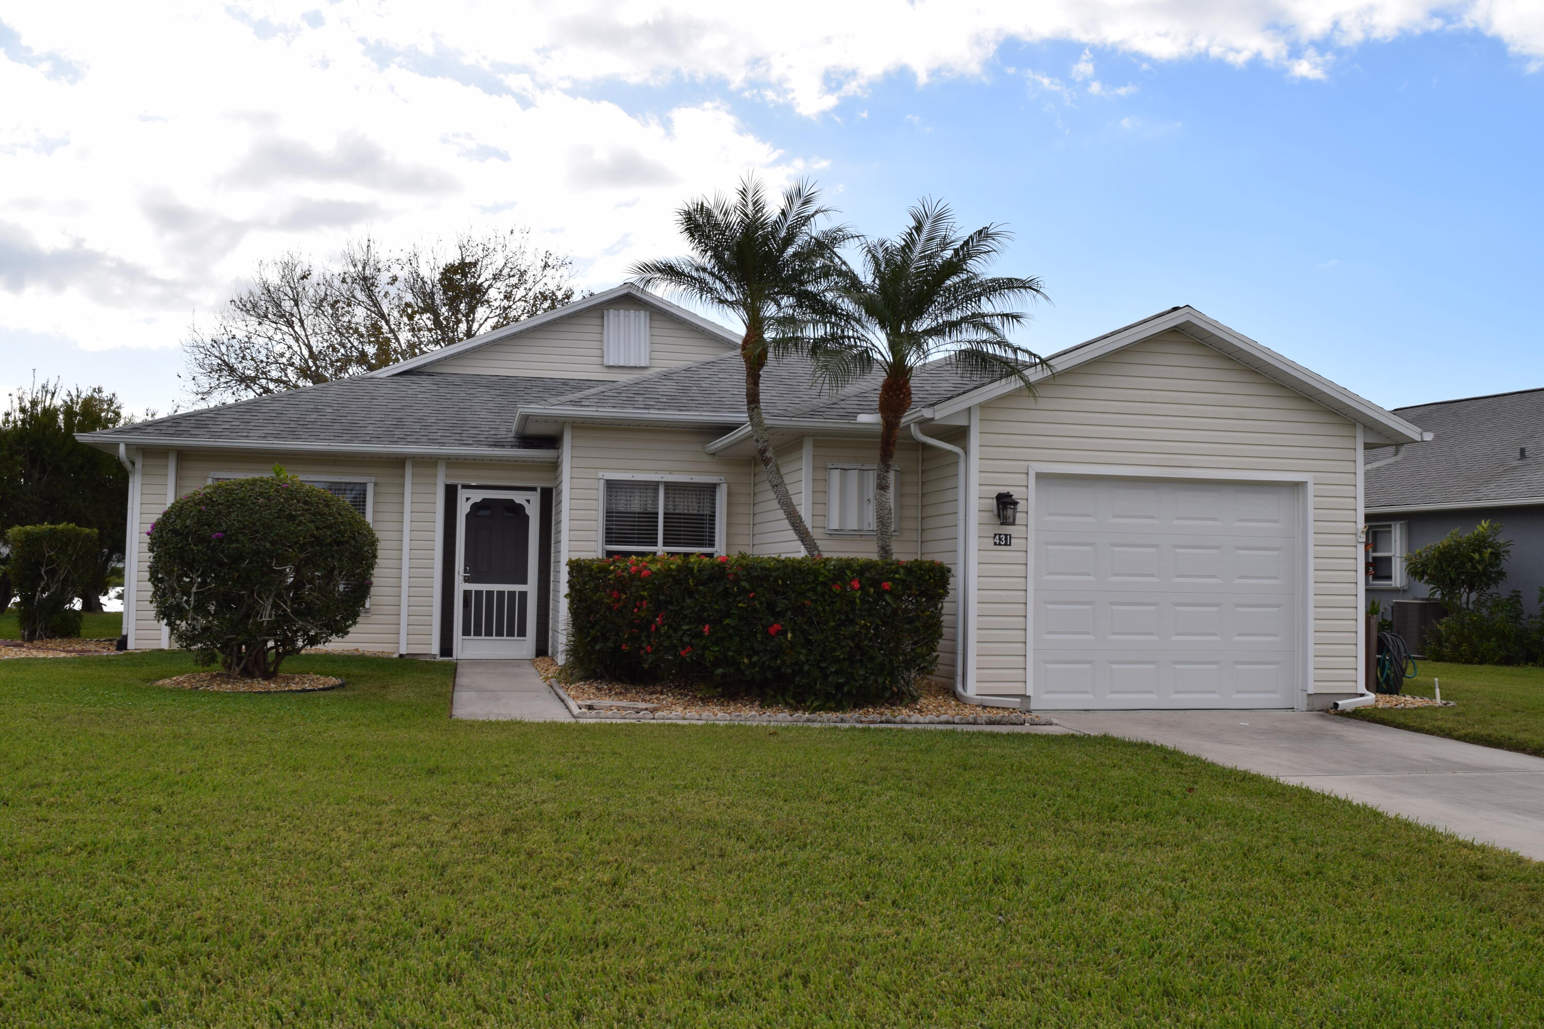
{"type": "Polygon", "coordinates": [[[1306,711],[1056,711],[1544,861],[1544,757],[1306,711]]]}

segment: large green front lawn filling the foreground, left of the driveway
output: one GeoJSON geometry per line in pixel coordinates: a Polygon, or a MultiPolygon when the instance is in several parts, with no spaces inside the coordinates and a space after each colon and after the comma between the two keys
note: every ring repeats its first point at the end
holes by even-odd
{"type": "Polygon", "coordinates": [[[0,662],[5,1026],[1544,1021],[1544,865],[1113,739],[0,662]]]}

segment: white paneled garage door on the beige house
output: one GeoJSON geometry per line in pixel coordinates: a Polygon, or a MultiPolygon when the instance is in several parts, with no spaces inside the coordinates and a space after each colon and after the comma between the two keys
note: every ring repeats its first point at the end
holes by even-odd
{"type": "Polygon", "coordinates": [[[1299,488],[1038,475],[1036,708],[1291,708],[1299,488]]]}

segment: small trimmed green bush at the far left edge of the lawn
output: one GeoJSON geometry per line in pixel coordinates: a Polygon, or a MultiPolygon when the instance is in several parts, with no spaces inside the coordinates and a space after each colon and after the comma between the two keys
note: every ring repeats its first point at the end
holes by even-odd
{"type": "Polygon", "coordinates": [[[6,575],[17,592],[23,640],[80,636],[80,612],[69,605],[91,583],[97,531],[77,525],[19,525],[8,534],[6,575]]]}

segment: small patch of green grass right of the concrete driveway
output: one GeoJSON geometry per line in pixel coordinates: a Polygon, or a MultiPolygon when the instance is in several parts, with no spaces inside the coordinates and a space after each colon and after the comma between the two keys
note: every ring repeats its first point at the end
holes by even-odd
{"type": "Polygon", "coordinates": [[[1544,668],[1420,662],[1405,693],[1430,697],[1442,680],[1451,708],[1356,708],[1349,717],[1544,757],[1544,668]]]}

